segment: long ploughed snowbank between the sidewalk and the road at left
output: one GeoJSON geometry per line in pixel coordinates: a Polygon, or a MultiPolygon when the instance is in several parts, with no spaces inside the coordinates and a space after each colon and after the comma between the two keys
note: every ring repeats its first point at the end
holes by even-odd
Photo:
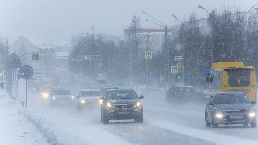
{"type": "Polygon", "coordinates": [[[86,145],[85,140],[79,136],[72,134],[70,131],[58,126],[55,123],[49,121],[46,117],[43,117],[33,108],[22,108],[19,114],[24,114],[26,119],[41,131],[48,139],[49,143],[55,145],[86,145]]]}

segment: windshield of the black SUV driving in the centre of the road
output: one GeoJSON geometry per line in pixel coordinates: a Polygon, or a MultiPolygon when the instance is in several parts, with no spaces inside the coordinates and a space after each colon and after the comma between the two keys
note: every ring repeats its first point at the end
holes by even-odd
{"type": "Polygon", "coordinates": [[[108,99],[136,99],[135,91],[113,91],[108,92],[108,99]]]}

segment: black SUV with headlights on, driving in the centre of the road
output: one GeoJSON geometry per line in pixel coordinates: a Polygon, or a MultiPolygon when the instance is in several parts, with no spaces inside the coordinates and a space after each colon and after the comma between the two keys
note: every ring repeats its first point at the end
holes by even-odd
{"type": "Polygon", "coordinates": [[[143,122],[143,105],[136,92],[132,89],[111,89],[104,97],[101,104],[101,122],[109,123],[109,120],[134,119],[135,122],[143,122]]]}

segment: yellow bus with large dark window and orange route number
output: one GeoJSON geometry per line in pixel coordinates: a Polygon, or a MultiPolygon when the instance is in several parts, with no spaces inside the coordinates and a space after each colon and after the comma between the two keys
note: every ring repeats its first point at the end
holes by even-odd
{"type": "Polygon", "coordinates": [[[217,92],[243,92],[250,102],[257,99],[255,69],[243,62],[213,63],[207,82],[210,96],[217,92]]]}

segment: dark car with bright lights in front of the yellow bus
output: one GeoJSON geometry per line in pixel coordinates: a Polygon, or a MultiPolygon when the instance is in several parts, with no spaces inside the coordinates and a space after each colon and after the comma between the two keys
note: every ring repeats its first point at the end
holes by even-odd
{"type": "Polygon", "coordinates": [[[213,94],[206,104],[206,127],[217,128],[218,124],[243,124],[256,127],[256,110],[242,92],[220,92],[213,94]]]}

